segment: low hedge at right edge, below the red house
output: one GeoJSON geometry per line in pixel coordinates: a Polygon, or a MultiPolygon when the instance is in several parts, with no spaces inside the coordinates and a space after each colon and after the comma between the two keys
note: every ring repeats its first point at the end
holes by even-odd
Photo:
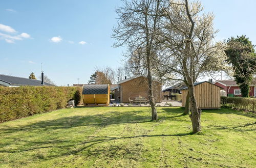
{"type": "Polygon", "coordinates": [[[256,112],[256,98],[221,96],[221,105],[256,112]]]}

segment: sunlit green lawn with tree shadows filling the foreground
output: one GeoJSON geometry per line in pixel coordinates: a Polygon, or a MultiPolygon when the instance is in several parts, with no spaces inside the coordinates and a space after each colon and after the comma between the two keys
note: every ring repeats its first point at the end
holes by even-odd
{"type": "Polygon", "coordinates": [[[191,134],[183,108],[61,109],[0,123],[0,167],[255,167],[256,119],[203,110],[191,134]]]}

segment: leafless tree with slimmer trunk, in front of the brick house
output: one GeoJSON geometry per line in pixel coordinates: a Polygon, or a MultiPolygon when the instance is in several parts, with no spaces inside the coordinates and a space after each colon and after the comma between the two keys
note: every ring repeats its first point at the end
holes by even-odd
{"type": "Polygon", "coordinates": [[[157,111],[153,95],[153,58],[157,50],[156,37],[160,29],[159,16],[163,10],[163,0],[132,0],[123,1],[123,6],[116,10],[118,26],[114,28],[115,47],[125,45],[130,58],[130,65],[141,65],[138,74],[147,77],[148,100],[152,110],[152,120],[157,120],[157,111]],[[139,57],[134,57],[139,55],[139,57]],[[136,60],[136,59],[138,60],[136,60]],[[134,64],[136,63],[136,64],[134,64]],[[140,64],[142,63],[142,64],[140,64]]]}

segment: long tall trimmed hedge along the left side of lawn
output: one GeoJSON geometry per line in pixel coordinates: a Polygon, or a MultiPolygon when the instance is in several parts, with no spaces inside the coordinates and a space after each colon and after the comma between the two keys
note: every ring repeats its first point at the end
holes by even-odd
{"type": "Polygon", "coordinates": [[[0,122],[65,108],[76,87],[0,87],[0,122]]]}

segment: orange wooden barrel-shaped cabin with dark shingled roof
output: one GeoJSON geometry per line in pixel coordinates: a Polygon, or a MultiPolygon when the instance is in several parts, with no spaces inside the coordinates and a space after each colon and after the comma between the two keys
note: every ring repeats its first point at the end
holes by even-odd
{"type": "Polygon", "coordinates": [[[110,104],[109,85],[83,85],[82,98],[84,105],[110,104]]]}

